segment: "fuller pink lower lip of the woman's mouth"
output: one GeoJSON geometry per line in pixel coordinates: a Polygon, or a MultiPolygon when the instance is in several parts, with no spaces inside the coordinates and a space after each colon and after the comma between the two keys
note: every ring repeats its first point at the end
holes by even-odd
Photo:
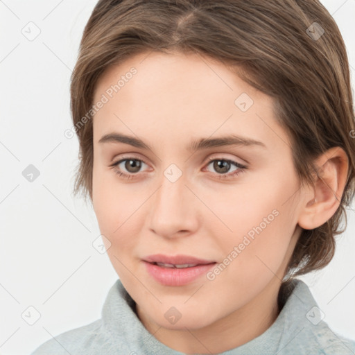
{"type": "Polygon", "coordinates": [[[146,264],[148,273],[160,284],[164,286],[184,286],[206,274],[216,263],[207,263],[205,265],[196,265],[191,268],[164,268],[164,266],[155,265],[143,261],[146,264]]]}

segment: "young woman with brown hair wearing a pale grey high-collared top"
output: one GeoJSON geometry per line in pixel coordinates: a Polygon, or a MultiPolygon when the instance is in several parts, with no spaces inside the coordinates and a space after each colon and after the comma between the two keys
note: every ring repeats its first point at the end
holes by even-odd
{"type": "Polygon", "coordinates": [[[354,354],[298,275],[354,197],[349,64],[309,0],[101,0],[72,74],[76,192],[119,279],[33,355],[354,354]]]}

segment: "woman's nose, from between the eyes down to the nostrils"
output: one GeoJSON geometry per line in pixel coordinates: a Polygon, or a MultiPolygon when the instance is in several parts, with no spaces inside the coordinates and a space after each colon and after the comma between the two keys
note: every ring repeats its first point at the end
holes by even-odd
{"type": "Polygon", "coordinates": [[[175,182],[165,176],[150,199],[148,227],[164,238],[188,236],[198,229],[198,198],[181,176],[175,182]]]}

